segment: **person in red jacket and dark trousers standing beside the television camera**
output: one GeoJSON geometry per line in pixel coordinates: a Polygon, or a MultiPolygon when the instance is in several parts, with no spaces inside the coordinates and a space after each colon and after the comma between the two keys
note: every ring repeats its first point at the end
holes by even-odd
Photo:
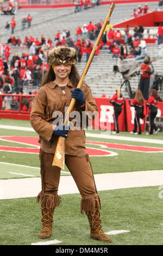
{"type": "Polygon", "coordinates": [[[149,83],[150,83],[150,78],[153,71],[154,71],[153,65],[151,64],[150,58],[149,56],[146,56],[144,59],[144,62],[141,64],[140,84],[139,84],[139,88],[145,100],[148,100],[149,83]]]}

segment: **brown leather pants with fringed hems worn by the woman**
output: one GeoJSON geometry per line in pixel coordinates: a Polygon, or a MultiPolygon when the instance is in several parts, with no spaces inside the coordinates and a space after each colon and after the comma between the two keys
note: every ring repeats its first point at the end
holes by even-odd
{"type": "MultiPolygon", "coordinates": [[[[45,153],[40,149],[42,190],[37,196],[37,202],[41,200],[41,208],[55,209],[60,204],[58,186],[60,180],[60,168],[52,166],[54,154],[45,153]]],[[[77,157],[65,155],[65,164],[76,182],[82,196],[80,211],[89,214],[95,208],[101,210],[101,202],[97,194],[95,179],[88,155],[77,157]],[[97,204],[98,202],[98,204],[97,204]]]]}

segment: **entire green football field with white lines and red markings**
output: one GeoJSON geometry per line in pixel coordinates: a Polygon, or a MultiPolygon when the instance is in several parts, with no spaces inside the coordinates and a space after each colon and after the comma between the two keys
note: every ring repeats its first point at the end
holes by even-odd
{"type": "MultiPolygon", "coordinates": [[[[21,196],[21,191],[32,189],[30,181],[41,183],[38,135],[30,129],[29,121],[0,119],[0,245],[45,242],[37,236],[41,229],[37,194],[21,196]],[[29,187],[22,187],[25,181],[29,187]]],[[[86,147],[99,182],[102,227],[112,238],[109,246],[163,245],[163,134],[121,132],[117,136],[86,131],[86,147]],[[99,177],[104,177],[103,183],[99,177]]],[[[66,177],[71,179],[65,167],[61,179],[66,177]]],[[[61,194],[53,233],[46,240],[50,244],[106,245],[90,239],[89,222],[80,214],[80,198],[78,192],[61,194]]]]}

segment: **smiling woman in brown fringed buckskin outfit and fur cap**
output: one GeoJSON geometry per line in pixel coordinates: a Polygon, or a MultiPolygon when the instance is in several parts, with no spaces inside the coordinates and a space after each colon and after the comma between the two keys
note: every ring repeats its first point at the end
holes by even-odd
{"type": "MultiPolygon", "coordinates": [[[[85,148],[85,132],[71,130],[67,125],[55,124],[55,111],[65,113],[65,107],[70,105],[72,97],[76,99],[74,110],[97,111],[95,99],[86,83],[82,89],[76,88],[79,74],[76,68],[76,50],[71,47],[55,47],[48,53],[49,70],[42,79],[41,88],[37,92],[30,122],[39,134],[40,163],[42,190],[37,196],[41,201],[42,230],[39,237],[48,238],[52,234],[54,209],[60,204],[58,186],[60,168],[52,166],[55,148],[59,136],[65,137],[65,164],[70,170],[78,190],[82,196],[80,211],[87,215],[90,223],[90,237],[111,242],[101,227],[101,202],[97,193],[91,163],[85,148]]],[[[81,121],[82,123],[82,121],[81,121]]]]}

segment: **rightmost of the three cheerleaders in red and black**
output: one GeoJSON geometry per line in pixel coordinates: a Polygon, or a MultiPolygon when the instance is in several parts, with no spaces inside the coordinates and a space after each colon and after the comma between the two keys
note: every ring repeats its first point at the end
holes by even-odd
{"type": "Polygon", "coordinates": [[[156,91],[156,89],[151,90],[151,96],[148,98],[147,106],[149,107],[149,132],[146,133],[146,135],[152,135],[153,130],[155,130],[155,135],[158,134],[160,131],[160,128],[157,127],[154,123],[154,118],[156,117],[156,114],[158,113],[158,101],[159,101],[159,95],[156,91]]]}

